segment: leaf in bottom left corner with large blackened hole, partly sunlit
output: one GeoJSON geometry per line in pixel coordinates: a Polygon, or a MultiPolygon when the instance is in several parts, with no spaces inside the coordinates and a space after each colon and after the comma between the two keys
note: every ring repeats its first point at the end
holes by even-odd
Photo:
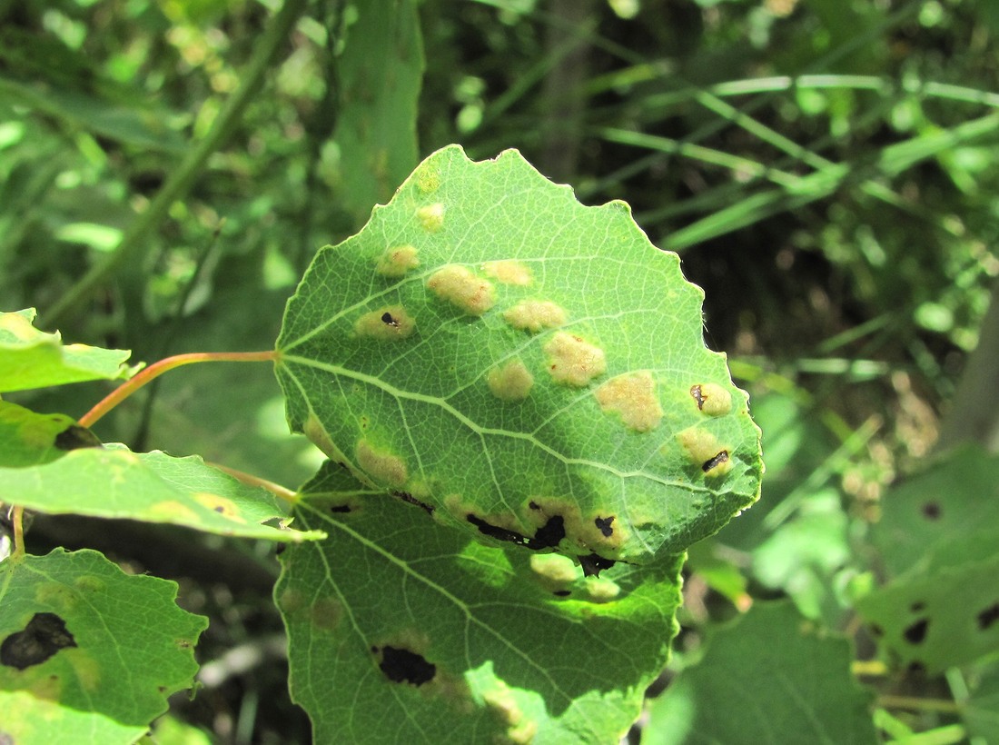
{"type": "Polygon", "coordinates": [[[0,733],[18,745],[136,741],[198,670],[208,619],[176,597],[175,582],[127,575],[96,551],[0,563],[0,733]]]}

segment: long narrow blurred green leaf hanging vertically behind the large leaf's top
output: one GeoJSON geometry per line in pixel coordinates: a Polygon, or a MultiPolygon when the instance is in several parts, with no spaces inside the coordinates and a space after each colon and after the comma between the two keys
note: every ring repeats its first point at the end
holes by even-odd
{"type": "Polygon", "coordinates": [[[364,219],[417,163],[424,48],[413,0],[348,3],[344,13],[344,49],[334,67],[340,88],[334,141],[343,202],[364,219]]]}

